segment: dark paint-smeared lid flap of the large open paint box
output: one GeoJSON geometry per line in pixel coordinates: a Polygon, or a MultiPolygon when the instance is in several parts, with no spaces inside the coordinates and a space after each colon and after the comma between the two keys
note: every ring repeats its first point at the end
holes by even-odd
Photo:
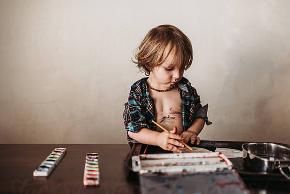
{"type": "Polygon", "coordinates": [[[243,180],[232,170],[215,173],[139,176],[141,194],[249,194],[243,180]]]}

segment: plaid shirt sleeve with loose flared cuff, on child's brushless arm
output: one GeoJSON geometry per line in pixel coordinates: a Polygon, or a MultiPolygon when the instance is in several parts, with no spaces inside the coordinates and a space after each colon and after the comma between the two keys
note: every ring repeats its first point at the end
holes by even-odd
{"type": "Polygon", "coordinates": [[[200,104],[200,97],[198,96],[196,89],[192,87],[192,90],[194,94],[194,104],[197,106],[197,109],[198,109],[193,116],[193,120],[196,118],[202,118],[205,121],[206,125],[213,124],[211,121],[208,120],[208,117],[207,117],[208,104],[206,104],[205,106],[202,106],[200,104]]]}

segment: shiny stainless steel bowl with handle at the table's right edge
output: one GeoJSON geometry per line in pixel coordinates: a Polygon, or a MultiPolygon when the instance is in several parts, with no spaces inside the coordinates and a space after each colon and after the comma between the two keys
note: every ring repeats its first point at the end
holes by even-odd
{"type": "Polygon", "coordinates": [[[245,165],[254,172],[268,173],[279,169],[290,179],[282,168],[290,170],[290,147],[274,143],[246,143],[242,145],[245,165]]]}

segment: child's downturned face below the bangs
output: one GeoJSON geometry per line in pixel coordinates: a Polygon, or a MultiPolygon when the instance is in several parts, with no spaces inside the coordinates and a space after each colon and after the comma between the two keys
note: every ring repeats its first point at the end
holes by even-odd
{"type": "Polygon", "coordinates": [[[177,65],[172,64],[173,57],[174,55],[170,53],[164,63],[154,67],[150,72],[151,80],[156,85],[164,87],[160,89],[168,89],[182,79],[184,69],[178,69],[177,65]]]}

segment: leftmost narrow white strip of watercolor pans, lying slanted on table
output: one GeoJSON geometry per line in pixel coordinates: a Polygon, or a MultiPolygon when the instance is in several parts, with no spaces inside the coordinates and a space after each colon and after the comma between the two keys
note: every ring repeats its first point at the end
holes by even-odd
{"type": "Polygon", "coordinates": [[[56,165],[61,161],[66,153],[66,148],[55,148],[38,168],[33,171],[34,177],[48,177],[56,165]]]}

